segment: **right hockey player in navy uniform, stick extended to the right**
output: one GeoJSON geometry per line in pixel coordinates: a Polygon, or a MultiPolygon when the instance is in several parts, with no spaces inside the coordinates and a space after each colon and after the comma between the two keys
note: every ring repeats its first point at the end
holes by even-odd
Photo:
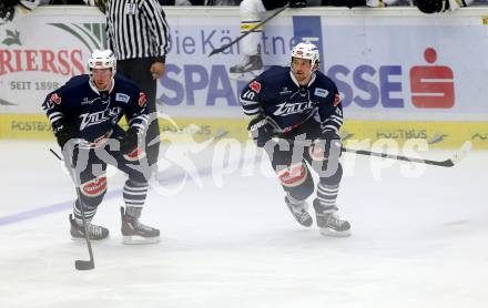
{"type": "Polygon", "coordinates": [[[335,83],[317,71],[318,61],[314,44],[298,43],[291,66],[272,66],[251,81],[241,103],[252,117],[247,130],[270,156],[295,219],[313,224],[306,203],[314,193],[312,168],[319,177],[313,206],[321,234],[348,236],[349,223],[336,215],[343,109],[335,83]]]}

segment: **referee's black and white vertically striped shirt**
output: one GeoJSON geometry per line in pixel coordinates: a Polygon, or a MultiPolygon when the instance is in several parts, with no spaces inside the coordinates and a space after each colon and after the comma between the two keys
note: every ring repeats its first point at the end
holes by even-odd
{"type": "Polygon", "coordinates": [[[157,0],[108,0],[106,35],[118,60],[165,62],[170,27],[157,0]]]}

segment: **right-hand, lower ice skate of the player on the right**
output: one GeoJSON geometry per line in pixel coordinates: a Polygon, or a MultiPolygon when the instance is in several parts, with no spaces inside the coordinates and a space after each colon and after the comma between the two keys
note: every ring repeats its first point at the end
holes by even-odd
{"type": "Polygon", "coordinates": [[[319,233],[324,236],[346,237],[350,236],[350,224],[340,219],[335,213],[337,207],[324,209],[324,206],[314,201],[315,214],[319,233]]]}

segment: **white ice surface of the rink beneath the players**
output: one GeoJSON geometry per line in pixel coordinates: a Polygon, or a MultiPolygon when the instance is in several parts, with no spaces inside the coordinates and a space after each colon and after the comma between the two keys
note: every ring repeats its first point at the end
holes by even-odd
{"type": "Polygon", "coordinates": [[[116,175],[95,216],[110,238],[93,243],[95,269],[77,271],[88,251],[69,236],[74,191],[49,147],[0,141],[1,308],[488,307],[487,152],[417,177],[396,163],[380,181],[372,165],[382,160],[344,156],[338,204],[349,238],[301,227],[276,178],[236,171],[223,187],[202,174],[203,187],[151,191],[142,220],[162,242],[124,246],[116,175]]]}

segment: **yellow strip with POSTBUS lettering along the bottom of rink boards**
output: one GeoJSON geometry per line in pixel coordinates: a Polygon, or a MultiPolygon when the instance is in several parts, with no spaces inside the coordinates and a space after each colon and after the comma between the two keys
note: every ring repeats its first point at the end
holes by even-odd
{"type": "MultiPolygon", "coordinates": [[[[123,121],[123,124],[124,121],[123,121]]],[[[215,136],[247,140],[247,121],[245,119],[218,117],[177,117],[160,119],[162,140],[166,133],[180,134],[177,142],[193,138],[202,142],[215,136]],[[191,129],[191,130],[190,130],[191,129]]],[[[487,122],[427,122],[427,121],[360,121],[346,120],[340,135],[347,142],[370,146],[385,138],[403,145],[406,141],[423,140],[433,148],[458,148],[465,141],[471,141],[475,148],[488,148],[487,122]]],[[[48,119],[42,114],[0,115],[0,138],[52,140],[53,135],[48,119]]]]}

